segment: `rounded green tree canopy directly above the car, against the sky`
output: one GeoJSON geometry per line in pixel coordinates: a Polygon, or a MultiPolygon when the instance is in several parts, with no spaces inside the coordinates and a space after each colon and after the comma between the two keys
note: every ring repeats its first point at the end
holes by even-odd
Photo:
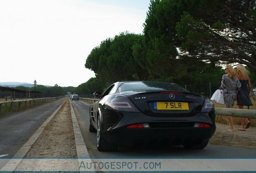
{"type": "Polygon", "coordinates": [[[132,46],[142,38],[140,34],[128,32],[107,38],[93,48],[85,67],[93,70],[103,81],[147,79],[147,70],[141,68],[132,55],[132,46]]]}

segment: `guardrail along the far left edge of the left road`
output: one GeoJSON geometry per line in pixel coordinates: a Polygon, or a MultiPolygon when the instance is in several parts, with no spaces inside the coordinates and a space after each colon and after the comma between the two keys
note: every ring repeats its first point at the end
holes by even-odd
{"type": "Polygon", "coordinates": [[[49,97],[49,98],[39,98],[39,99],[26,99],[26,100],[14,100],[14,101],[2,101],[0,102],[0,113],[2,111],[2,105],[7,105],[7,104],[10,104],[10,110],[13,109],[14,107],[14,103],[18,103],[18,106],[21,107],[21,103],[25,103],[25,107],[27,107],[27,103],[29,103],[29,106],[31,106],[31,102],[33,102],[33,104],[35,105],[35,103],[37,102],[47,102],[47,101],[50,101],[50,100],[58,100],[59,98],[62,98],[62,97],[49,97]]]}

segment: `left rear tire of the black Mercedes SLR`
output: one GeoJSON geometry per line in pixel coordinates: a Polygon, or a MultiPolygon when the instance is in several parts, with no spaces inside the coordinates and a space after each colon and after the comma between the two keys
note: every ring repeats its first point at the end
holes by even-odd
{"type": "Polygon", "coordinates": [[[100,121],[99,117],[97,118],[97,149],[99,151],[116,151],[118,149],[117,146],[110,145],[102,137],[101,121],[100,121]]]}

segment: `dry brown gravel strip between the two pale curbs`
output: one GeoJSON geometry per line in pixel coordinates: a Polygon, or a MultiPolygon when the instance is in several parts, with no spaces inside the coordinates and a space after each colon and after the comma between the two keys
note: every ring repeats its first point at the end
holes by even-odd
{"type": "Polygon", "coordinates": [[[68,99],[25,157],[77,157],[68,99]]]}

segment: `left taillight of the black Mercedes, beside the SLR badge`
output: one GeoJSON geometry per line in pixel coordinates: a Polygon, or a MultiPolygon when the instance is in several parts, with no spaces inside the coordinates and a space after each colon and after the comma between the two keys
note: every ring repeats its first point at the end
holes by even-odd
{"type": "Polygon", "coordinates": [[[139,112],[128,97],[116,97],[105,103],[109,109],[123,112],[139,112]]]}

